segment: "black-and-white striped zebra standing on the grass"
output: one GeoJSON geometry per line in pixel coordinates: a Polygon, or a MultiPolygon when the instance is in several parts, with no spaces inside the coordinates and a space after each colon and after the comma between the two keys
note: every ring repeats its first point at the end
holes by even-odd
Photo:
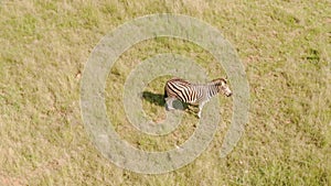
{"type": "Polygon", "coordinates": [[[178,99],[190,105],[199,105],[197,118],[201,118],[203,106],[218,92],[223,92],[227,97],[232,96],[225,78],[217,78],[207,84],[191,84],[174,77],[168,80],[164,86],[166,109],[174,109],[172,101],[178,99]]]}

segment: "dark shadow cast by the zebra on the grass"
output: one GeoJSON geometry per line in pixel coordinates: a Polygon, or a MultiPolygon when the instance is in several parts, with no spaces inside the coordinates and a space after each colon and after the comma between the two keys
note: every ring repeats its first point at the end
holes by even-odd
{"type": "MultiPolygon", "coordinates": [[[[142,99],[159,106],[159,107],[166,107],[166,100],[164,100],[164,95],[160,94],[153,94],[150,91],[143,91],[142,92],[142,99]]],[[[173,101],[173,107],[179,110],[186,110],[189,109],[188,103],[182,103],[180,100],[173,101]]]]}

